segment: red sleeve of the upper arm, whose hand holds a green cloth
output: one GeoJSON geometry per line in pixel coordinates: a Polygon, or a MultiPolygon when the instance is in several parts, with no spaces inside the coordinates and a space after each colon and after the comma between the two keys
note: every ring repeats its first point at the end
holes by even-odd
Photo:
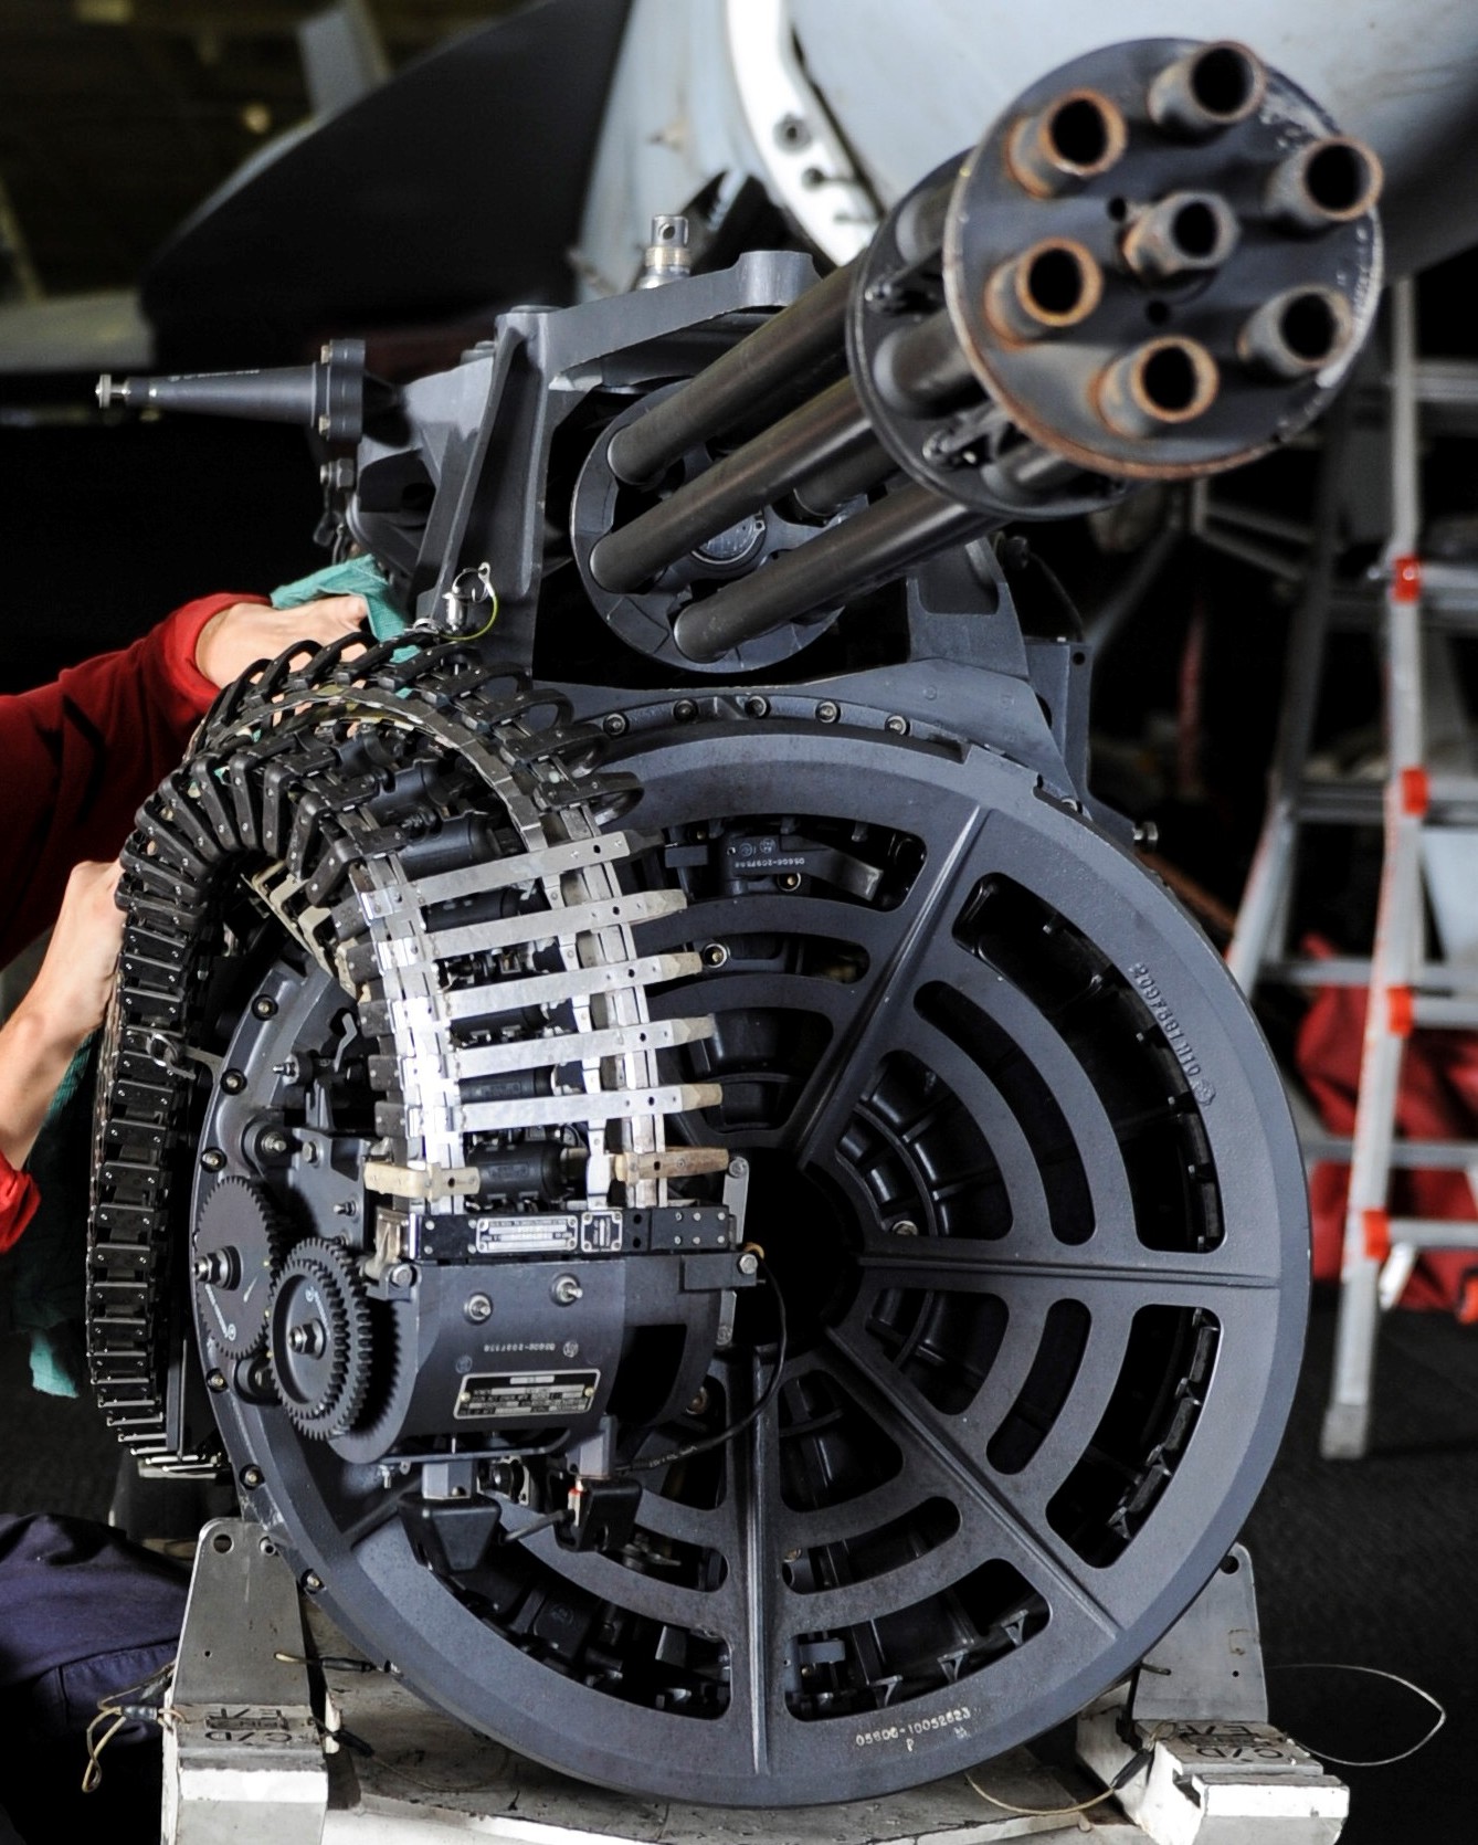
{"type": "Polygon", "coordinates": [[[260,596],[203,596],[120,653],[0,697],[0,965],[54,919],[77,860],[113,858],[138,804],[185,755],[216,688],[196,668],[212,614],[260,596]]]}

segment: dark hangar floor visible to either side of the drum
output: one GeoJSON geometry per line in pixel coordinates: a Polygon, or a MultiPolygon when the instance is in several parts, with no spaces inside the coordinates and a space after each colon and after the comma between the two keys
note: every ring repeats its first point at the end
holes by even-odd
{"type": "MultiPolygon", "coordinates": [[[[1345,1845],[1471,1836],[1478,1734],[1478,1332],[1436,1314],[1382,1330],[1373,1448],[1321,1461],[1334,1301],[1317,1301],[1282,1452],[1246,1531],[1258,1572],[1273,1720],[1316,1755],[1399,1755],[1430,1710],[1373,1666],[1426,1688],[1445,1731],[1391,1768],[1340,1768],[1345,1845]]],[[[0,1343],[0,1511],[107,1517],[113,1439],[87,1402],[30,1391],[24,1347],[0,1343]]]]}

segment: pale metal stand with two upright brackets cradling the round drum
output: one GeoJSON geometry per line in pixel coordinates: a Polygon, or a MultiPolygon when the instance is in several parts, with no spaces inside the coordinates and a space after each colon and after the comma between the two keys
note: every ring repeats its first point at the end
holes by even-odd
{"type": "Polygon", "coordinates": [[[792,1810],[590,1788],[351,1655],[299,1601],[262,1526],[218,1518],[201,1531],[164,1710],[162,1845],[991,1845],[1085,1832],[1098,1845],[1332,1845],[1349,1814],[1343,1782],[1268,1723],[1240,1546],[1135,1675],[1083,1712],[1078,1756],[1087,1775],[1017,1749],[969,1777],[792,1810]],[[1116,1804],[1079,1810],[1105,1786],[1116,1804]]]}

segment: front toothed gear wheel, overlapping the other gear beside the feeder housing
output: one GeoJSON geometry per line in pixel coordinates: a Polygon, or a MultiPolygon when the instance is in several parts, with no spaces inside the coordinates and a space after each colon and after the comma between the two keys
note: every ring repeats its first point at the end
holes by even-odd
{"type": "Polygon", "coordinates": [[[282,1264],[268,1310],[271,1376],[292,1422],[314,1441],[347,1434],[369,1393],[371,1321],[340,1244],[310,1238],[282,1264]]]}

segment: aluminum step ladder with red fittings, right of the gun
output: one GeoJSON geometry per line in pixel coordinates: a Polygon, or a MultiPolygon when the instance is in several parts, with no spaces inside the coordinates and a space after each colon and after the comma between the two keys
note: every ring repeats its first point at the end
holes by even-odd
{"type": "MultiPolygon", "coordinates": [[[[1262,838],[1227,950],[1251,996],[1264,980],[1369,989],[1354,1135],[1305,1131],[1305,1155],[1351,1166],[1340,1275],[1334,1380],[1321,1452],[1362,1456],[1369,1443],[1380,1312],[1395,1304],[1426,1249],[1478,1251],[1478,1223],[1402,1218],[1389,1208],[1393,1170],[1465,1172],[1478,1196],[1478,1142],[1397,1140],[1397,1094],[1415,1026],[1478,1028],[1478,755],[1456,690],[1450,637],[1478,633],[1478,563],[1426,563],[1421,537],[1423,411],[1437,408],[1478,435],[1478,367],[1419,363],[1415,288],[1389,295],[1389,541],[1378,570],[1384,662],[1382,782],[1310,780],[1316,705],[1332,622],[1358,613],[1336,592],[1338,515],[1354,393],[1330,421],[1314,520],[1314,555],[1293,627],[1288,694],[1262,838]],[[1308,825],[1380,823],[1384,860],[1369,959],[1288,952],[1297,841],[1308,825]],[[1428,958],[1428,906],[1437,954],[1428,958]]],[[[1308,1113],[1308,1111],[1305,1111],[1308,1113]]],[[[1308,1124],[1305,1124],[1306,1127],[1308,1124]]],[[[1474,1255],[1478,1266],[1478,1255],[1474,1255]]]]}

